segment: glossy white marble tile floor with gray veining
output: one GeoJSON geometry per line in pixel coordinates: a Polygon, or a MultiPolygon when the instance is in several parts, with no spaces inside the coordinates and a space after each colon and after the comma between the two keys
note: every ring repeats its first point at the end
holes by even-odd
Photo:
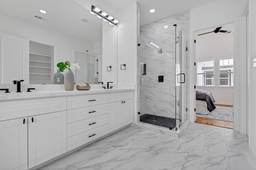
{"type": "Polygon", "coordinates": [[[180,138],[124,128],[40,170],[255,170],[248,137],[189,123],[180,138]]]}

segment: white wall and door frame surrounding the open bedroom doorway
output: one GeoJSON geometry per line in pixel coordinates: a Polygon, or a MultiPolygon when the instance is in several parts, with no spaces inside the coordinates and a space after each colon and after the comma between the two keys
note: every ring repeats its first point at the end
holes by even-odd
{"type": "MultiPolygon", "coordinates": [[[[190,73],[194,73],[194,32],[234,23],[234,130],[246,133],[246,35],[241,18],[246,1],[222,0],[190,10],[190,73]]],[[[190,74],[190,92],[194,91],[194,75],[190,74]]],[[[195,121],[195,94],[190,93],[190,122],[195,121]]]]}

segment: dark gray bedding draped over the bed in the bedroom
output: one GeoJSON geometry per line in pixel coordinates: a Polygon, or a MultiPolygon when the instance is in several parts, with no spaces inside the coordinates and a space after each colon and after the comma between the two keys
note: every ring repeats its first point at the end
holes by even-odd
{"type": "Polygon", "coordinates": [[[206,101],[208,111],[213,111],[216,107],[214,105],[214,98],[212,93],[208,90],[204,90],[202,92],[196,92],[196,100],[206,101]]]}

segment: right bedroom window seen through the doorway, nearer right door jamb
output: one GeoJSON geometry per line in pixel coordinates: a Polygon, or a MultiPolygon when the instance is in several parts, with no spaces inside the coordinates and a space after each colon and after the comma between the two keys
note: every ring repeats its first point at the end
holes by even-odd
{"type": "Polygon", "coordinates": [[[233,86],[233,58],[220,59],[220,86],[233,86]]]}

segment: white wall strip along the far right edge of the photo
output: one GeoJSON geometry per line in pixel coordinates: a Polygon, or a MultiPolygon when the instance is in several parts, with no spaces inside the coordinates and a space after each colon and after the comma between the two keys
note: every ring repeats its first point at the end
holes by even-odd
{"type": "Polygon", "coordinates": [[[249,151],[256,166],[256,67],[252,67],[252,60],[256,58],[256,1],[249,1],[249,151]]]}

